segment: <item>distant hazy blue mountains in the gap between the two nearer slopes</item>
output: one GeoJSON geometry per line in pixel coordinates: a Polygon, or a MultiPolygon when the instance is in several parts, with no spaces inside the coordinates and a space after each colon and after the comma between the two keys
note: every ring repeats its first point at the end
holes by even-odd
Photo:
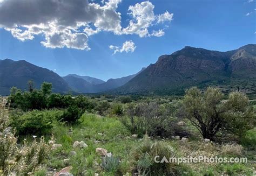
{"type": "MultiPolygon", "coordinates": [[[[144,69],[145,68],[142,68],[140,72],[142,72],[144,69]]],[[[111,89],[123,86],[125,83],[127,83],[132,78],[134,78],[134,76],[138,75],[140,72],[133,75],[124,76],[122,78],[109,79],[104,83],[100,83],[96,85],[95,83],[93,84],[93,82],[84,80],[85,76],[78,76],[75,74],[64,76],[63,79],[66,82],[68,82],[69,86],[73,90],[77,91],[78,93],[99,93],[102,91],[107,91],[107,90],[111,90],[111,89]]],[[[96,79],[96,80],[99,80],[99,79],[96,79]]]]}

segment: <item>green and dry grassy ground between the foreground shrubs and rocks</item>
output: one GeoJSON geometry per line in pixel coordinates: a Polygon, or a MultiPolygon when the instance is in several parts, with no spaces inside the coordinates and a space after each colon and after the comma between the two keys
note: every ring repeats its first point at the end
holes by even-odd
{"type": "MultiPolygon", "coordinates": [[[[80,119],[80,123],[72,126],[55,123],[53,135],[56,138],[56,143],[62,144],[62,147],[54,150],[50,154],[47,161],[47,169],[59,171],[66,166],[72,166],[74,175],[115,175],[112,172],[106,172],[100,164],[102,159],[96,154],[96,148],[102,147],[108,152],[112,152],[114,157],[120,159],[119,175],[131,173],[132,166],[129,163],[131,160],[131,151],[142,143],[142,139],[131,138],[132,135],[127,131],[118,117],[101,117],[93,114],[84,114],[80,119]],[[83,140],[88,147],[85,149],[77,149],[76,155],[71,156],[73,151],[72,144],[78,140],[83,140]],[[64,159],[70,159],[65,161],[64,159]]],[[[167,143],[177,149],[179,156],[226,156],[226,157],[248,157],[246,164],[184,164],[183,175],[253,175],[256,168],[255,151],[242,153],[223,151],[221,145],[213,143],[204,143],[201,139],[191,138],[189,142],[180,142],[172,139],[152,139],[165,140],[167,143]]],[[[232,150],[232,149],[231,149],[232,150]]]]}

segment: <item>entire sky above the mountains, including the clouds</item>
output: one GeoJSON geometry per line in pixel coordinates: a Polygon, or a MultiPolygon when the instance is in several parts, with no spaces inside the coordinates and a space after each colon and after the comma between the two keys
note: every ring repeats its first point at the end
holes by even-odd
{"type": "Polygon", "coordinates": [[[256,42],[256,0],[0,0],[0,59],[104,81],[185,46],[256,42]]]}

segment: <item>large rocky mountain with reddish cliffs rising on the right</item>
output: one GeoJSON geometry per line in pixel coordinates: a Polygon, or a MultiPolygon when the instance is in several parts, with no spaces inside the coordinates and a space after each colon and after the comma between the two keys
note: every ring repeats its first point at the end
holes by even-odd
{"type": "MultiPolygon", "coordinates": [[[[190,86],[248,86],[256,94],[256,45],[219,52],[186,46],[171,55],[162,55],[115,94],[184,93],[190,86]],[[253,86],[254,85],[254,86],[253,86]]],[[[237,88],[237,87],[236,87],[237,88]]]]}

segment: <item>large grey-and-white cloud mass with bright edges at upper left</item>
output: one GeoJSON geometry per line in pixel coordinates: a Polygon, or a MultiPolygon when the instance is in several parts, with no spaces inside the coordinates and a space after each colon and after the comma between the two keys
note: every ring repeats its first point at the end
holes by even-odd
{"type": "Polygon", "coordinates": [[[164,31],[151,31],[153,24],[170,22],[173,14],[155,15],[149,2],[129,6],[129,25],[121,26],[121,13],[117,12],[122,0],[0,0],[0,27],[15,38],[25,41],[42,35],[41,44],[50,48],[90,50],[89,37],[101,31],[117,35],[138,34],[140,37],[160,37],[164,31]]]}

